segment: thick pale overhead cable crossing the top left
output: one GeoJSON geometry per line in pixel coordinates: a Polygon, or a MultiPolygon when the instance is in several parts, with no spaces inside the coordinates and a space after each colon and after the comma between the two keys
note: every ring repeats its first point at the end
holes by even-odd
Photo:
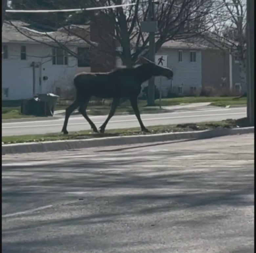
{"type": "Polygon", "coordinates": [[[72,11],[82,11],[82,10],[97,10],[97,9],[114,9],[118,7],[125,7],[125,6],[131,6],[136,5],[136,3],[132,4],[120,4],[120,5],[112,5],[112,6],[103,6],[103,7],[91,7],[91,8],[80,8],[80,9],[60,9],[60,10],[6,10],[6,12],[15,12],[15,13],[44,13],[44,12],[72,12],[72,11]]]}

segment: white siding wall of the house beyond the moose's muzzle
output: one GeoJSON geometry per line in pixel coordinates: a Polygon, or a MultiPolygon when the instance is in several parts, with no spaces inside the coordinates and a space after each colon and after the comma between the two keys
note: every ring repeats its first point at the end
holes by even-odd
{"type": "MultiPolygon", "coordinates": [[[[190,49],[182,49],[182,62],[179,62],[179,50],[160,49],[156,55],[167,55],[167,67],[173,70],[173,80],[161,77],[162,96],[167,96],[168,90],[178,93],[178,87],[183,86],[183,93],[189,93],[190,87],[196,87],[197,91],[202,88],[202,59],[201,50],[196,51],[196,62],[190,62],[190,49]]],[[[143,87],[148,82],[143,83],[143,87]]],[[[159,89],[160,77],[155,77],[155,85],[159,89]]]]}

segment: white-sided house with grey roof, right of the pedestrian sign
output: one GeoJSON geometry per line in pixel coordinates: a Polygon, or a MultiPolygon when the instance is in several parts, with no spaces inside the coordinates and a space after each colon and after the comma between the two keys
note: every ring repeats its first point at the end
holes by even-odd
{"type": "MultiPolygon", "coordinates": [[[[155,85],[162,91],[162,96],[167,96],[168,92],[185,95],[191,92],[200,93],[202,89],[202,50],[204,46],[198,46],[192,43],[184,43],[180,41],[165,42],[158,55],[167,56],[167,67],[174,72],[172,80],[167,80],[164,77],[156,77],[155,85]],[[161,83],[161,85],[160,85],[161,83]]],[[[118,50],[121,50],[119,47],[118,50]]],[[[122,64],[117,58],[117,66],[122,64]]],[[[148,85],[144,82],[142,87],[148,85]]]]}

